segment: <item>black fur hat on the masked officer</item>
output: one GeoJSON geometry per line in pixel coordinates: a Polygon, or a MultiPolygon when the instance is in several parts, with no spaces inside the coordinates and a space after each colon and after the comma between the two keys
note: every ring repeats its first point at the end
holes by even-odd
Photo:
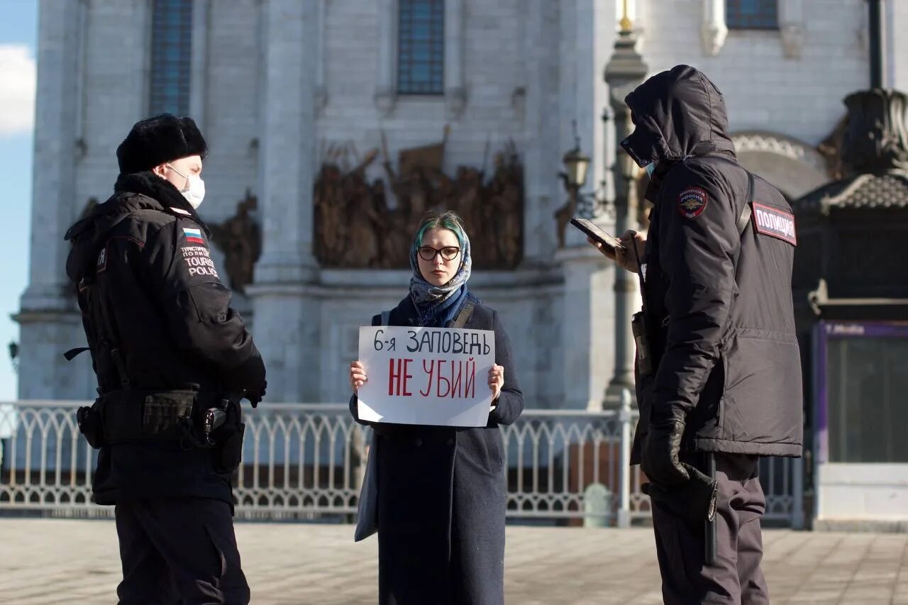
{"type": "Polygon", "coordinates": [[[141,173],[188,155],[208,153],[208,145],[191,117],[160,114],[136,122],[116,148],[120,174],[141,173]]]}

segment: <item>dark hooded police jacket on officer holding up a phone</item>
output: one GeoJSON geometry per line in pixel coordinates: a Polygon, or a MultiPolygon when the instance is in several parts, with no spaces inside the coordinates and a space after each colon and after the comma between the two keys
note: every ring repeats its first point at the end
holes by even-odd
{"type": "Polygon", "coordinates": [[[656,170],[645,307],[656,369],[638,376],[633,460],[652,420],[686,421],[684,447],[799,456],[801,361],[792,304],[795,223],[782,193],[735,162],[725,102],[693,67],[656,74],[625,99],[622,146],[656,170]],[[738,220],[752,216],[744,233],[738,220]]]}

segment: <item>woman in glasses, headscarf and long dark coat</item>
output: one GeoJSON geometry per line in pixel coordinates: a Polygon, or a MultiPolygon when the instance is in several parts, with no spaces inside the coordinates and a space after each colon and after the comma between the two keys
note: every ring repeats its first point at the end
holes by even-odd
{"type": "MultiPolygon", "coordinates": [[[[470,265],[458,215],[430,215],[410,248],[410,293],[388,316],[389,325],[449,327],[471,302],[463,327],[495,332],[495,364],[485,427],[369,423],[377,440],[382,605],[504,603],[507,482],[498,425],[518,419],[523,394],[498,313],[469,293],[470,265]]],[[[379,324],[376,315],[372,325],[379,324]]],[[[362,363],[351,362],[354,393],[367,380],[362,363]]],[[[356,394],[350,413],[365,423],[356,394]]]]}

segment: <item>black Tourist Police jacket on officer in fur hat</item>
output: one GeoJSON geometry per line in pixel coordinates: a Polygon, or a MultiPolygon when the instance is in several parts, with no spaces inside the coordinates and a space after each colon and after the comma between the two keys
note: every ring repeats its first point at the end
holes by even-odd
{"type": "MultiPolygon", "coordinates": [[[[262,357],[230,307],[212,263],[204,225],[183,195],[152,173],[122,174],[114,195],[66,234],[66,263],[78,284],[94,274],[105,316],[125,358],[132,389],[242,392],[262,386],[262,357]]],[[[89,344],[94,326],[79,295],[89,344]]],[[[104,392],[119,389],[108,362],[95,359],[104,392]]],[[[95,501],[200,496],[231,501],[230,477],[214,473],[210,452],[176,442],[102,448],[95,501]]]]}

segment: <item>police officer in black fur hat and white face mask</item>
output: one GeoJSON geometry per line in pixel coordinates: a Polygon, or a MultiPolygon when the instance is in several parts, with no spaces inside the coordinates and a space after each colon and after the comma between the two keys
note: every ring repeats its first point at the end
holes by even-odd
{"type": "Polygon", "coordinates": [[[206,144],[191,118],[143,120],[117,148],[114,194],[66,233],[99,397],[94,501],[115,505],[120,603],[248,603],[232,525],[240,399],[262,356],[212,263],[206,144]]]}

